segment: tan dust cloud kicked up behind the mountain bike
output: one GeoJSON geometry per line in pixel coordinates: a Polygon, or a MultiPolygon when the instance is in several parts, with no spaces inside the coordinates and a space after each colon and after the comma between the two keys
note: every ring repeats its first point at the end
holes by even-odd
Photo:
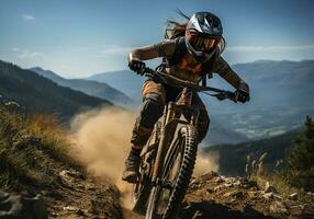
{"type": "MultiPolygon", "coordinates": [[[[81,113],[71,122],[76,139],[74,155],[87,166],[88,172],[104,176],[119,187],[125,208],[132,206],[133,186],[121,181],[121,176],[136,115],[135,112],[104,108],[81,113]]],[[[216,171],[216,161],[217,155],[199,153],[194,175],[216,171]]]]}

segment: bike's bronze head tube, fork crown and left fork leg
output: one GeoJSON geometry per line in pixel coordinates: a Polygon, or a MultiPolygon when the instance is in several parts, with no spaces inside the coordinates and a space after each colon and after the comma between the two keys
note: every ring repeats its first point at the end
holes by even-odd
{"type": "Polygon", "coordinates": [[[189,91],[188,89],[183,89],[180,99],[173,103],[169,102],[164,111],[164,120],[160,130],[160,141],[157,148],[157,155],[153,170],[153,185],[157,185],[159,183],[159,178],[162,171],[164,159],[167,150],[170,147],[171,140],[173,138],[175,131],[179,124],[190,124],[195,126],[199,119],[200,107],[198,104],[192,105],[192,99],[195,95],[194,91],[189,91]],[[181,115],[183,115],[184,111],[189,111],[191,113],[191,118],[188,120],[180,119],[181,115]]]}

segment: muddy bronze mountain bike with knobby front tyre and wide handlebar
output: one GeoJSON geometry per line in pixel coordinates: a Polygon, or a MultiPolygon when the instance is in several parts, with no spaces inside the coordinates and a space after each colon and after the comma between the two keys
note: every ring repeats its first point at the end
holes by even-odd
{"type": "Polygon", "coordinates": [[[175,219],[188,189],[198,151],[197,124],[200,114],[192,100],[204,92],[218,100],[235,100],[234,93],[201,87],[161,71],[145,69],[145,76],[182,88],[176,102],[165,106],[141,153],[139,176],[134,185],[133,210],[146,219],[175,219]],[[211,92],[211,93],[209,93],[211,92]],[[184,115],[189,114],[188,118],[184,115]]]}

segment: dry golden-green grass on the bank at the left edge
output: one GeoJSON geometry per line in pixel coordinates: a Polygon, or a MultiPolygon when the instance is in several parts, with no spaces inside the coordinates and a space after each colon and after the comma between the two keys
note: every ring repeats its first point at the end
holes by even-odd
{"type": "Polygon", "coordinates": [[[55,163],[71,164],[67,132],[56,117],[25,116],[0,105],[0,186],[27,189],[48,186],[58,177],[55,163]],[[54,163],[54,166],[53,166],[54,163]]]}

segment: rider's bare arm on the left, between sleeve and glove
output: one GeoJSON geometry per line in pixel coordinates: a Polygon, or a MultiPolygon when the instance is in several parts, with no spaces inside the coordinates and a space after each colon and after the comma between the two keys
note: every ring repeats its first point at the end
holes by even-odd
{"type": "Polygon", "coordinates": [[[175,39],[165,39],[160,43],[144,46],[132,50],[128,54],[128,60],[148,60],[158,57],[171,57],[176,50],[177,43],[175,39]]]}

